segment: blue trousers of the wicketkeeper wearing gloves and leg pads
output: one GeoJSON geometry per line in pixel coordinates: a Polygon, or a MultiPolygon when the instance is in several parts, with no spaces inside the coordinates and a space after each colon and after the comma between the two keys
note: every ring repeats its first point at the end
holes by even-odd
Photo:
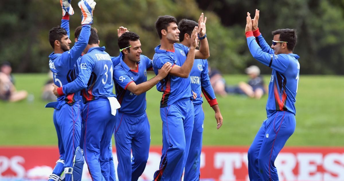
{"type": "MultiPolygon", "coordinates": [[[[81,133],[79,103],[75,102],[73,105],[63,104],[60,109],[55,109],[53,120],[57,133],[60,159],[64,160],[64,168],[73,167],[75,149],[79,146],[81,133]]],[[[56,171],[60,172],[61,170],[56,171]]],[[[56,171],[54,169],[53,173],[61,175],[56,171]]],[[[67,174],[65,179],[66,181],[72,180],[72,175],[67,174]]]]}

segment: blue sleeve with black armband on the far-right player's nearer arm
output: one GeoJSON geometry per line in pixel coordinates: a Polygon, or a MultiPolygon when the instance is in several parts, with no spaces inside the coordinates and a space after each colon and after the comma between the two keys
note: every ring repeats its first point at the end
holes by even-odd
{"type": "Polygon", "coordinates": [[[247,37],[248,48],[252,56],[264,65],[271,67],[278,72],[284,73],[289,66],[289,57],[287,54],[270,54],[264,52],[255,40],[255,37],[247,37]]]}

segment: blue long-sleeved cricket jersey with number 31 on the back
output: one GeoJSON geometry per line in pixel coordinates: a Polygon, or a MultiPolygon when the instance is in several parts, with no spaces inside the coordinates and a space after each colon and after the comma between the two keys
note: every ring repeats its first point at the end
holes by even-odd
{"type": "Polygon", "coordinates": [[[84,102],[98,98],[116,97],[113,88],[113,62],[105,47],[92,47],[82,57],[80,74],[62,87],[64,94],[82,90],[84,102]]]}

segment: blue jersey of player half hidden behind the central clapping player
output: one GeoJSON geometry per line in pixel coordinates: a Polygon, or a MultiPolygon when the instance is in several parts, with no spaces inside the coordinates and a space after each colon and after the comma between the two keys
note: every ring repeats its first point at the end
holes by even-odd
{"type": "Polygon", "coordinates": [[[197,94],[193,104],[202,104],[202,92],[210,106],[217,104],[214,89],[208,75],[208,61],[206,59],[195,59],[190,72],[191,89],[197,94]]]}

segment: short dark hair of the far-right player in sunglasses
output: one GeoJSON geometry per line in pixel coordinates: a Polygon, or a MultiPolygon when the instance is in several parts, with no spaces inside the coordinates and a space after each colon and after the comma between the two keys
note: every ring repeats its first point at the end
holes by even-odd
{"type": "Polygon", "coordinates": [[[296,45],[296,41],[298,36],[296,35],[295,29],[279,29],[272,31],[272,35],[275,36],[276,34],[280,35],[280,41],[286,41],[287,48],[290,51],[293,51],[296,45]]]}

